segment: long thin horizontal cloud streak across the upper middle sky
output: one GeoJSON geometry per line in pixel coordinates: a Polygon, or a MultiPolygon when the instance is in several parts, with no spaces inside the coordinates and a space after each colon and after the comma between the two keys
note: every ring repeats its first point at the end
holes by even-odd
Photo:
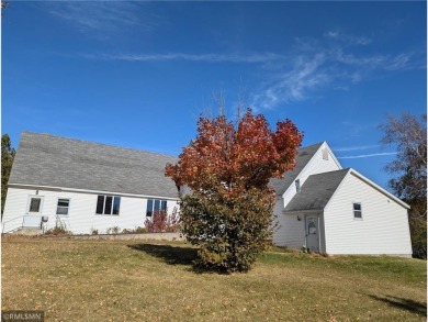
{"type": "Polygon", "coordinates": [[[272,60],[284,59],[284,55],[273,53],[262,54],[80,54],[80,56],[90,59],[104,60],[125,60],[125,62],[167,62],[167,60],[188,60],[204,63],[267,63],[272,60]]]}

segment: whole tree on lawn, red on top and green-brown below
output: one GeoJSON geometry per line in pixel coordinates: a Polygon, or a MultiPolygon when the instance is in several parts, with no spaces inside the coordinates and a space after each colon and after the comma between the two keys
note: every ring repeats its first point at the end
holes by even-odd
{"type": "Polygon", "coordinates": [[[295,166],[303,134],[290,121],[269,129],[248,109],[234,124],[225,115],[201,118],[198,135],[167,165],[166,175],[191,192],[181,196],[180,222],[199,245],[196,265],[246,271],[271,240],[274,191],[268,187],[295,166]]]}

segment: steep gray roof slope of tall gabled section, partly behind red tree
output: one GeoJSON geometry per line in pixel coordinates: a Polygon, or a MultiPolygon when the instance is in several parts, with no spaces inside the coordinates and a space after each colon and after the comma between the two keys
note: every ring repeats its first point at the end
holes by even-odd
{"type": "Polygon", "coordinates": [[[318,151],[318,148],[323,145],[324,142],[319,142],[306,147],[302,147],[299,149],[297,156],[295,158],[296,166],[291,171],[286,171],[283,179],[270,179],[269,184],[274,188],[277,196],[282,196],[285,190],[292,185],[299,174],[303,170],[303,168],[307,165],[307,163],[312,159],[314,154],[318,151]]]}

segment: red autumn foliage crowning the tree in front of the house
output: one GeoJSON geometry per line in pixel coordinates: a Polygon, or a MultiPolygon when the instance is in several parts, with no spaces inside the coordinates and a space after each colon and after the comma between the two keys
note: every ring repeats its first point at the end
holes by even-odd
{"type": "Polygon", "coordinates": [[[166,176],[193,190],[210,190],[221,182],[238,193],[263,188],[270,178],[281,178],[292,169],[303,138],[290,120],[278,122],[273,132],[264,116],[254,115],[250,109],[237,129],[222,115],[201,118],[198,132],[178,164],[167,165],[166,176]]]}

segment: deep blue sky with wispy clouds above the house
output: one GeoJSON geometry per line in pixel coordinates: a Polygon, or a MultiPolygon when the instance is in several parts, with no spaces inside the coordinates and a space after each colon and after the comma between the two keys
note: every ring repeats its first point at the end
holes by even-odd
{"type": "Polygon", "coordinates": [[[426,111],[426,2],[11,1],[2,133],[178,155],[222,92],[386,187],[387,114],[426,111]]]}

